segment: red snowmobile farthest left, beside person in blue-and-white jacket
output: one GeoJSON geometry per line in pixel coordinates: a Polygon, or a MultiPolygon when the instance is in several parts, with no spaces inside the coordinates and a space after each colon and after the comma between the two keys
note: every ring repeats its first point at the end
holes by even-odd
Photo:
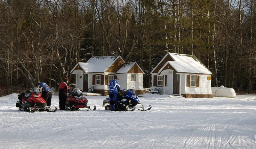
{"type": "Polygon", "coordinates": [[[46,101],[41,97],[41,93],[38,88],[33,88],[31,93],[22,93],[18,95],[19,101],[16,102],[16,107],[20,111],[25,112],[36,112],[47,111],[47,112],[56,112],[57,107],[52,110],[51,107],[46,105],[46,101]]]}

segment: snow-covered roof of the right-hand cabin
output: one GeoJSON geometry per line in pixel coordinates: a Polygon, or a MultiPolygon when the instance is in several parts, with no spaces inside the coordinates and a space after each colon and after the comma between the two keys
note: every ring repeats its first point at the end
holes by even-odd
{"type": "Polygon", "coordinates": [[[162,69],[169,63],[178,73],[212,74],[211,71],[209,71],[196,56],[177,53],[167,53],[167,55],[170,55],[174,61],[168,61],[165,63],[158,73],[160,73],[162,69]]]}

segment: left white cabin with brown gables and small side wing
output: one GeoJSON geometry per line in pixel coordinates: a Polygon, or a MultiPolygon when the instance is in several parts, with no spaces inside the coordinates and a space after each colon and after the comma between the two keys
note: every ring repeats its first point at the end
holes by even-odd
{"type": "Polygon", "coordinates": [[[121,89],[134,87],[136,94],[144,93],[144,72],[136,62],[125,63],[121,56],[92,57],[86,63],[77,63],[71,73],[76,74],[76,87],[83,92],[94,86],[93,93],[108,95],[109,83],[119,78],[121,89]]]}

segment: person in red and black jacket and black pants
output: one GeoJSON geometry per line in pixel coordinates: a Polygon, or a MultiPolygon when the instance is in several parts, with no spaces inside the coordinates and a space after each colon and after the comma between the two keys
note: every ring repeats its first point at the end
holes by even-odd
{"type": "Polygon", "coordinates": [[[60,110],[66,110],[65,103],[66,103],[67,93],[70,92],[68,81],[69,81],[68,77],[65,77],[64,81],[60,83],[60,89],[59,89],[60,110]]]}

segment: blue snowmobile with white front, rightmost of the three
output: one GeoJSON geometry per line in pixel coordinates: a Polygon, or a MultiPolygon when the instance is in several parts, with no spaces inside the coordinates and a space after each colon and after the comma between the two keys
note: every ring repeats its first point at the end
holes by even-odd
{"type": "MultiPolygon", "coordinates": [[[[136,108],[140,111],[150,110],[152,108],[151,105],[148,106],[148,109],[145,109],[136,96],[134,87],[133,89],[130,88],[128,90],[122,90],[122,92],[126,92],[124,96],[121,96],[120,92],[118,93],[116,103],[117,111],[134,111],[136,108]]],[[[103,100],[102,107],[105,107],[105,110],[110,110],[109,98],[103,100]]]]}

